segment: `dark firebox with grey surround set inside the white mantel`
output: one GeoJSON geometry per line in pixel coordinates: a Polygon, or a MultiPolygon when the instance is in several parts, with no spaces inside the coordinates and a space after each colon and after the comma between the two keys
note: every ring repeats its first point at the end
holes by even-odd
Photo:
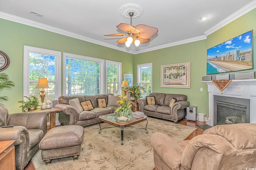
{"type": "Polygon", "coordinates": [[[214,95],[214,126],[250,123],[250,100],[214,95]]]}

